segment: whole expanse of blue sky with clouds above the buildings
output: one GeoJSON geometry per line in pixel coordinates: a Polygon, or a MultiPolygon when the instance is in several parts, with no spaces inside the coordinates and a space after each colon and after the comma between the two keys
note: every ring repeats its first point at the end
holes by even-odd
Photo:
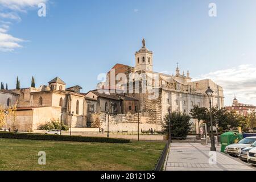
{"type": "Polygon", "coordinates": [[[226,105],[234,94],[256,105],[255,9],[255,0],[0,0],[0,81],[14,88],[19,76],[28,87],[32,76],[36,85],[59,76],[87,92],[114,64],[133,66],[145,38],[154,71],[172,74],[179,62],[191,77],[223,86],[226,105]]]}

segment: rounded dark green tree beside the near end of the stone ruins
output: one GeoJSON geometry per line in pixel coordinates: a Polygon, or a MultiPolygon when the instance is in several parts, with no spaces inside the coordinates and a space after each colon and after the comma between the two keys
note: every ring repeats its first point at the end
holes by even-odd
{"type": "MultiPolygon", "coordinates": [[[[172,112],[170,119],[172,137],[187,137],[191,127],[190,119],[191,117],[188,114],[172,112]]],[[[169,135],[169,114],[166,114],[164,121],[163,131],[169,135]]]]}

